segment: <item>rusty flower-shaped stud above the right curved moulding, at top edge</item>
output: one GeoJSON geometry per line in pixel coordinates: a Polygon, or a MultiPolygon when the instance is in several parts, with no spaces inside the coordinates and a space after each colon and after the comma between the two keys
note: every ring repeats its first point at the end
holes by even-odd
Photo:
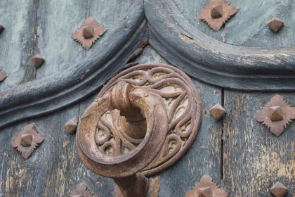
{"type": "Polygon", "coordinates": [[[212,0],[201,11],[198,17],[216,32],[223,24],[237,13],[238,9],[225,0],[212,0]]]}

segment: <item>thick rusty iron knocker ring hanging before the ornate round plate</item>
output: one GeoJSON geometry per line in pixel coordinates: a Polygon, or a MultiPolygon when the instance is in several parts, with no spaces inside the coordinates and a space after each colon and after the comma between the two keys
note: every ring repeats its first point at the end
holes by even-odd
{"type": "Polygon", "coordinates": [[[133,89],[129,92],[127,87],[124,94],[126,86],[128,86],[126,82],[119,82],[112,93],[109,92],[93,102],[81,117],[78,127],[77,148],[83,163],[93,172],[105,177],[128,177],[142,170],[157,156],[168,131],[168,117],[161,102],[162,98],[145,89],[133,88],[131,85],[129,86],[133,89]],[[118,110],[129,110],[131,106],[140,108],[145,114],[147,120],[145,139],[135,150],[126,155],[105,155],[98,149],[94,140],[97,121],[107,110],[113,110],[114,107],[118,110]]]}

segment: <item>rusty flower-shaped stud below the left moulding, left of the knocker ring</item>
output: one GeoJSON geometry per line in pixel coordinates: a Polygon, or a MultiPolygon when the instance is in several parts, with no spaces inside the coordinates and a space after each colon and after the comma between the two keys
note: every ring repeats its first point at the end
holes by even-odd
{"type": "Polygon", "coordinates": [[[44,141],[44,135],[39,133],[34,124],[25,126],[22,131],[11,141],[13,148],[27,159],[33,153],[34,148],[44,141]]]}

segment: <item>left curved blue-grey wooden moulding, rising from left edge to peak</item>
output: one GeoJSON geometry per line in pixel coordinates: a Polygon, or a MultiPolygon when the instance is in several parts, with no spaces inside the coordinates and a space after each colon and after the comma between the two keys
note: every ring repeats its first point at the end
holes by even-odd
{"type": "Polygon", "coordinates": [[[107,42],[92,56],[41,80],[22,84],[0,93],[0,127],[17,120],[58,110],[99,89],[113,72],[124,68],[140,43],[147,42],[143,4],[135,1],[107,42]],[[125,30],[125,27],[129,27],[125,30]],[[99,55],[96,55],[99,54],[99,55]],[[98,80],[99,79],[99,80],[98,80]]]}

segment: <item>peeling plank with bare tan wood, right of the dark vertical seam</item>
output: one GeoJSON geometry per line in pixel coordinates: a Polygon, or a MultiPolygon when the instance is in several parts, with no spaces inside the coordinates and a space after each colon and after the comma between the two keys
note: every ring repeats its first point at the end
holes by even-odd
{"type": "MultiPolygon", "coordinates": [[[[294,94],[280,93],[295,106],[294,94]]],[[[225,91],[224,159],[225,189],[232,196],[270,196],[280,181],[295,195],[295,125],[276,137],[254,116],[275,93],[225,91]]]]}

